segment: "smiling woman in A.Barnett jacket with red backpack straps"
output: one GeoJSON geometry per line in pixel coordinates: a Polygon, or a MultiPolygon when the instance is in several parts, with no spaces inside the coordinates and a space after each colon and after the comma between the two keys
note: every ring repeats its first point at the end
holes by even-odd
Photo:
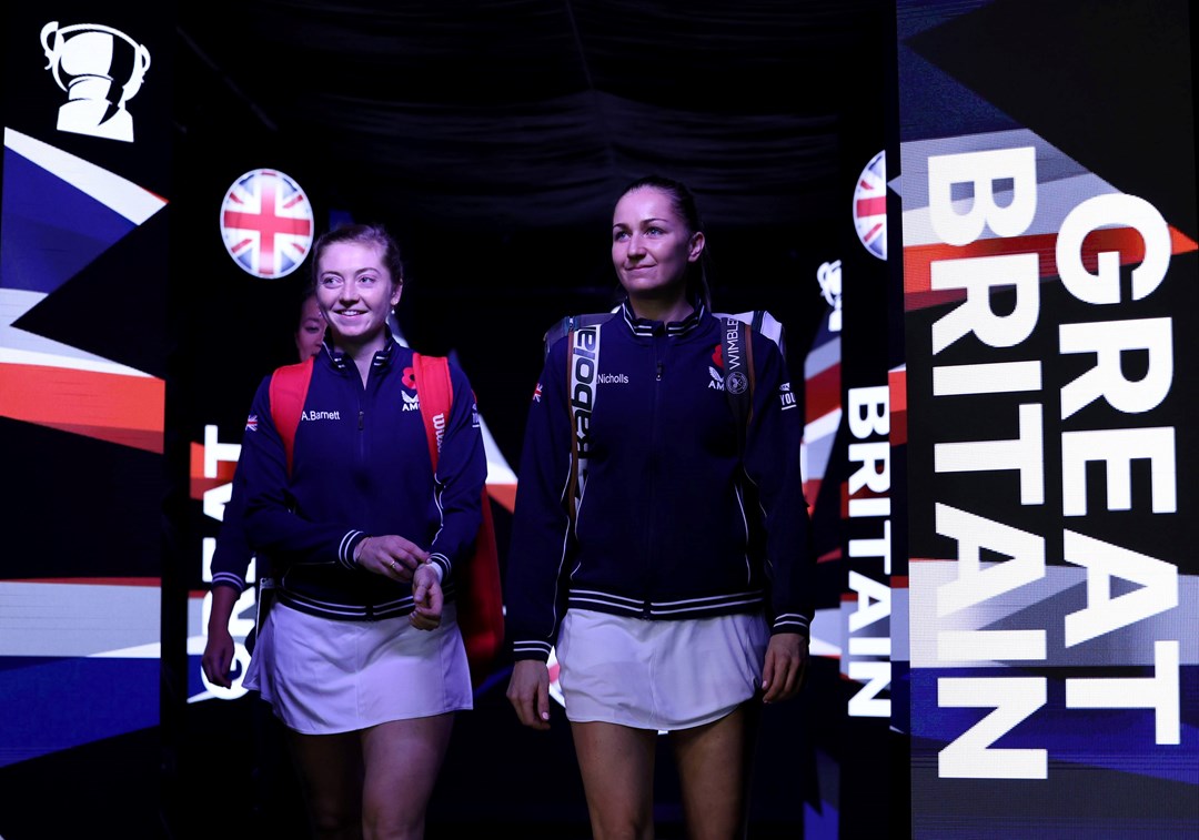
{"type": "Polygon", "coordinates": [[[243,685],[287,727],[318,838],[422,836],[454,715],[474,702],[442,580],[478,531],[486,453],[470,383],[451,365],[434,473],[408,410],[414,353],[387,326],[403,277],[380,226],[318,240],[325,344],[259,386],[237,467],[245,531],[270,557],[277,602],[243,685]],[[275,385],[297,370],[299,428],[284,430],[275,385]]]}

